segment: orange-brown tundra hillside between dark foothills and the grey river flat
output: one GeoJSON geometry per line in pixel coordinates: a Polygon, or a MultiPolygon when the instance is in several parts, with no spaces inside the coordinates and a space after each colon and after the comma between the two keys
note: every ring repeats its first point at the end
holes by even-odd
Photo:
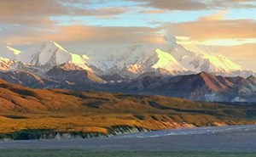
{"type": "Polygon", "coordinates": [[[0,81],[0,138],[108,136],[189,126],[255,124],[255,115],[253,105],[32,89],[0,81]]]}

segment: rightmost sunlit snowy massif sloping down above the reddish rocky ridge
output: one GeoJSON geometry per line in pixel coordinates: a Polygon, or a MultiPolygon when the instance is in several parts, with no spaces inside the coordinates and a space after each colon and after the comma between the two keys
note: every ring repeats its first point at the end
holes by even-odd
{"type": "Polygon", "coordinates": [[[234,63],[223,55],[213,54],[211,47],[188,44],[177,44],[170,50],[177,62],[188,70],[199,73],[207,71],[214,75],[236,76],[237,71],[244,70],[241,65],[234,63]]]}

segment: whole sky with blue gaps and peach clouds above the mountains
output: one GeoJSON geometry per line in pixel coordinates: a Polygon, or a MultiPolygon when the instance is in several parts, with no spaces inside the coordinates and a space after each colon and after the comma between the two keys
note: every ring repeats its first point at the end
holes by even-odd
{"type": "Polygon", "coordinates": [[[1,0],[0,43],[59,42],[73,53],[130,44],[214,48],[256,70],[255,0],[1,0]]]}

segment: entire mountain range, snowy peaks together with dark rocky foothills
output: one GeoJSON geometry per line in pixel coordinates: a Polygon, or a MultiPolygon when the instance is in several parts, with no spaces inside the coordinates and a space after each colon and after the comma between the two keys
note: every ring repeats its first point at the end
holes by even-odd
{"type": "Polygon", "coordinates": [[[133,45],[87,55],[69,53],[52,41],[24,51],[2,46],[0,52],[0,78],[26,87],[256,101],[252,70],[175,40],[163,48],[133,45]]]}

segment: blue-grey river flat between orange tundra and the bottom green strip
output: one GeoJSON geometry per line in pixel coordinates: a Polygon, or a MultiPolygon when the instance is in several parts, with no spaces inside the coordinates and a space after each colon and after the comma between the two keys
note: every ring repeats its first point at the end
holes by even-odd
{"type": "Polygon", "coordinates": [[[0,142],[0,149],[256,151],[256,126],[188,128],[108,138],[9,141],[0,142]]]}

